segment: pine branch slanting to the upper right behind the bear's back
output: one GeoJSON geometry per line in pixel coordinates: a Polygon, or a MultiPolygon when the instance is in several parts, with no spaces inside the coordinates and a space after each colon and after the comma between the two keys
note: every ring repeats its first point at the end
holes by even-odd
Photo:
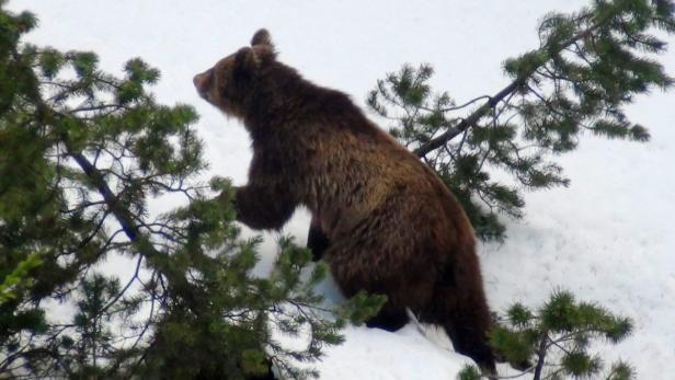
{"type": "Polygon", "coordinates": [[[670,0],[594,0],[572,14],[550,13],[539,47],[506,59],[504,89],[457,104],[428,84],[430,65],[403,66],[379,80],[368,105],[391,134],[438,173],[482,239],[502,239],[497,215],[520,217],[522,191],[567,186],[549,157],[576,148],[584,131],[647,141],[625,106],[674,81],[653,56],[675,32],[670,0]],[[505,172],[513,183],[493,180],[505,172]]]}

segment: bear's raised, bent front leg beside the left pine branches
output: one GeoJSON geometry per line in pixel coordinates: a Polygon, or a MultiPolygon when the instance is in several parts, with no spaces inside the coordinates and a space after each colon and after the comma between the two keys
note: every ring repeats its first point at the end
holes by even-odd
{"type": "Polygon", "coordinates": [[[254,230],[281,229],[290,218],[297,203],[284,191],[267,186],[234,187],[237,220],[254,230]]]}

